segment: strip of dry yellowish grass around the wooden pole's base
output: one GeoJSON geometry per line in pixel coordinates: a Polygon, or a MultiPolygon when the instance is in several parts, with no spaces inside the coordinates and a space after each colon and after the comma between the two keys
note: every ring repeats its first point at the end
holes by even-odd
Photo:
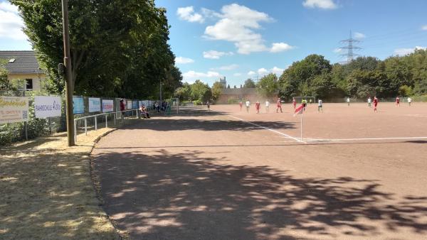
{"type": "Polygon", "coordinates": [[[120,239],[97,200],[90,151],[112,129],[0,148],[0,239],[120,239]]]}

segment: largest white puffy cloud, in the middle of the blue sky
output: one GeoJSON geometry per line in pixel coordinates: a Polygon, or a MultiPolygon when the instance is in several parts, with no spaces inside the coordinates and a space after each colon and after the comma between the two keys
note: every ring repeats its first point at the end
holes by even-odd
{"type": "Polygon", "coordinates": [[[261,22],[273,21],[267,13],[230,4],[222,7],[219,16],[221,18],[214,26],[206,27],[206,38],[232,42],[238,48],[237,52],[241,54],[268,50],[263,37],[254,31],[261,28],[261,22]]]}

